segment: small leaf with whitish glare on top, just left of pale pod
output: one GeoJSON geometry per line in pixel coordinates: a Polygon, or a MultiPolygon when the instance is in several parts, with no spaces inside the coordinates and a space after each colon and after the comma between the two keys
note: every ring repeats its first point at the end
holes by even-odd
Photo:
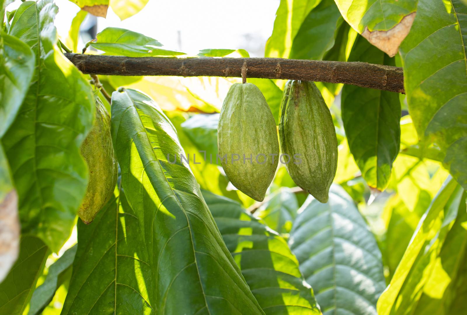
{"type": "Polygon", "coordinates": [[[199,151],[197,156],[203,157],[205,161],[212,161],[213,164],[220,165],[220,161],[216,160],[218,154],[218,124],[219,114],[199,114],[187,119],[181,124],[181,127],[188,138],[190,138],[191,142],[196,145],[196,148],[199,151]]]}

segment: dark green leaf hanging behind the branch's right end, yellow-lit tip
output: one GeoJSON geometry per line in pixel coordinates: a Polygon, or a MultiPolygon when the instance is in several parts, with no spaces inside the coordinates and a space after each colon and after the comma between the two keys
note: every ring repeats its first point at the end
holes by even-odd
{"type": "MultiPolygon", "coordinates": [[[[394,65],[394,60],[359,36],[349,61],[394,65]]],[[[350,152],[368,185],[384,190],[399,153],[401,105],[397,93],[345,85],[342,121],[350,152]]]]}

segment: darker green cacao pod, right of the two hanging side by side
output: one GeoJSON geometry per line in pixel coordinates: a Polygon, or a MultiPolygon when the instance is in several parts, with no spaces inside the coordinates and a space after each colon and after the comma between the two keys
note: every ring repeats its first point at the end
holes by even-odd
{"type": "Polygon", "coordinates": [[[279,120],[281,150],[291,157],[285,165],[290,177],[318,201],[327,202],[336,175],[337,138],[333,117],[313,82],[286,83],[279,120]]]}

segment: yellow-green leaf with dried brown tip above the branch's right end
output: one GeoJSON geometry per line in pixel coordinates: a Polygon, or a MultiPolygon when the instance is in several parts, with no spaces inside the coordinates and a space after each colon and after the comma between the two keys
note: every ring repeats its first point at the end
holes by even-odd
{"type": "Polygon", "coordinates": [[[389,57],[409,34],[417,10],[417,0],[335,1],[347,23],[389,57]]]}

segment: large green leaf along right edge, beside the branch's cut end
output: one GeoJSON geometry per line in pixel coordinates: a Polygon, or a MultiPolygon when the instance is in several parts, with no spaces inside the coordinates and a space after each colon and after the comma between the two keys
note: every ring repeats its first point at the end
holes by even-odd
{"type": "Polygon", "coordinates": [[[446,167],[465,189],[466,14],[460,0],[420,0],[413,29],[400,49],[409,112],[418,136],[446,152],[446,167]]]}

